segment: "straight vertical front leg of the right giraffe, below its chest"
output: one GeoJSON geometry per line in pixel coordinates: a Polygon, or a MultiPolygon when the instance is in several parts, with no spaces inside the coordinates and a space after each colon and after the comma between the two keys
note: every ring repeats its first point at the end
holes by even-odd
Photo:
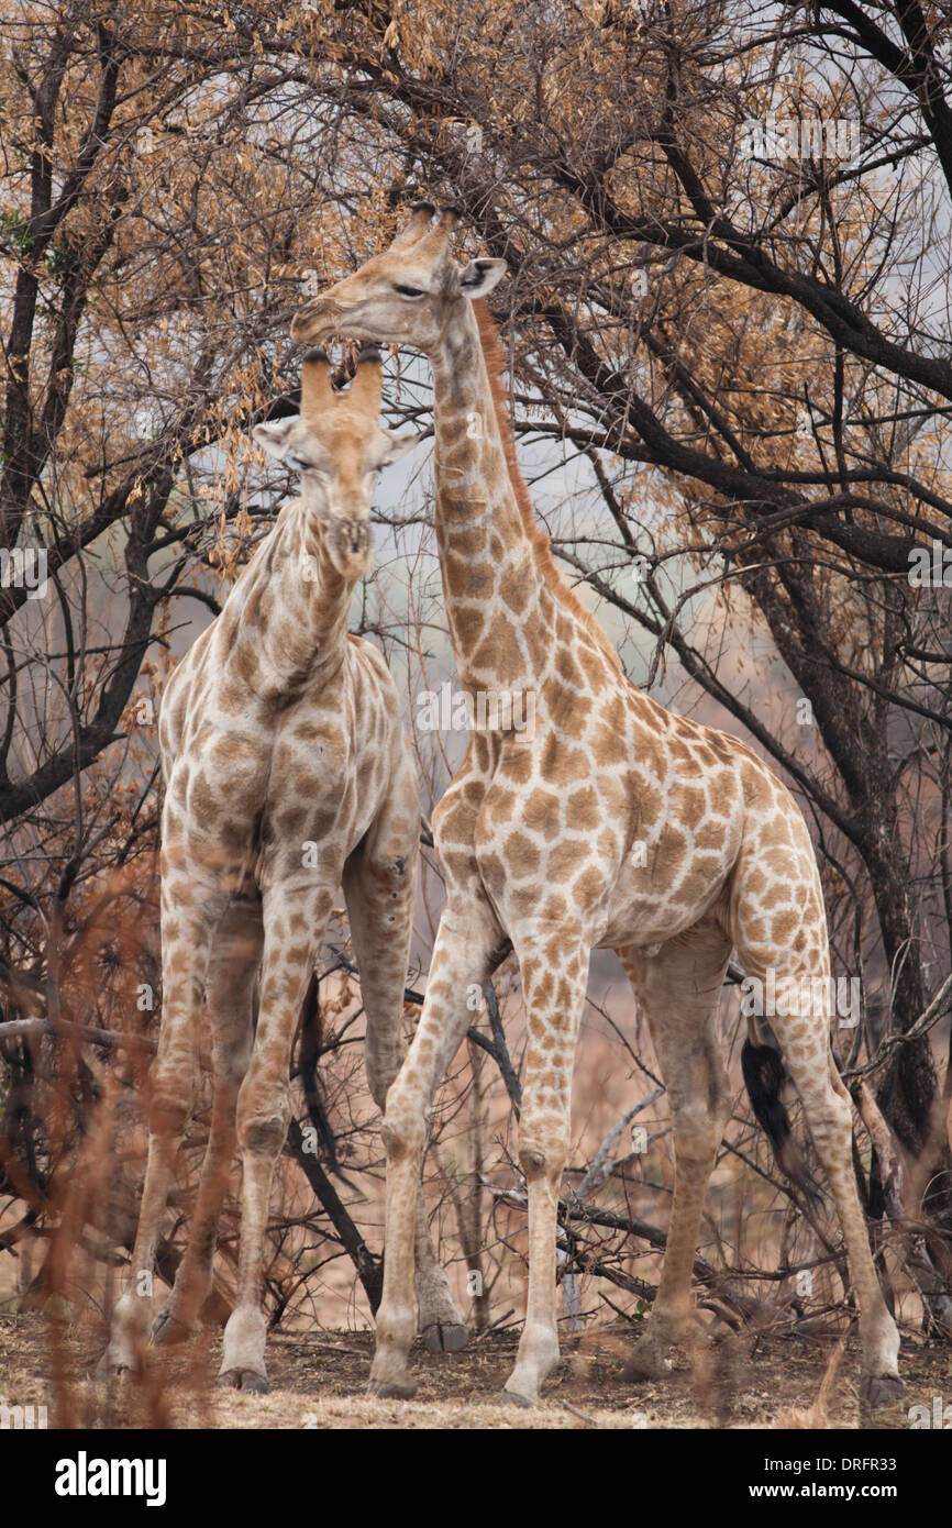
{"type": "Polygon", "coordinates": [[[529,1299],[503,1398],[535,1406],[559,1361],[556,1218],[572,1126],[572,1073],[585,1004],[590,943],[579,934],[515,940],[529,1016],[520,1166],[529,1190],[529,1299]]]}

